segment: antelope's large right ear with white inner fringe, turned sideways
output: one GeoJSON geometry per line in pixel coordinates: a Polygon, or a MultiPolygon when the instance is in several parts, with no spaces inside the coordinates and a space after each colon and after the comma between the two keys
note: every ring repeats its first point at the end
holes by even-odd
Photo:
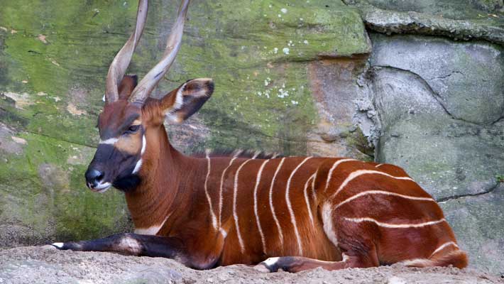
{"type": "Polygon", "coordinates": [[[169,119],[177,123],[185,121],[207,102],[214,92],[210,78],[199,78],[185,82],[160,100],[160,107],[169,119]]]}

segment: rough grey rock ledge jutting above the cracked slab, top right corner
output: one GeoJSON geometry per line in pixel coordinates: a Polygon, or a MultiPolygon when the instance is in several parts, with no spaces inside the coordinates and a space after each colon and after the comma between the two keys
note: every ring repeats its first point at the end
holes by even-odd
{"type": "Polygon", "coordinates": [[[443,35],[504,43],[502,0],[344,0],[380,33],[443,35]]]}

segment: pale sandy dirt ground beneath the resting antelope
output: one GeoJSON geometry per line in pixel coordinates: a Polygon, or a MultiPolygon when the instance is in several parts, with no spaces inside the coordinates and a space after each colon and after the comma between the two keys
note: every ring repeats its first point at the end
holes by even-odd
{"type": "Polygon", "coordinates": [[[195,271],[166,258],[21,247],[0,251],[0,283],[504,283],[471,269],[405,268],[261,273],[247,266],[195,271]]]}

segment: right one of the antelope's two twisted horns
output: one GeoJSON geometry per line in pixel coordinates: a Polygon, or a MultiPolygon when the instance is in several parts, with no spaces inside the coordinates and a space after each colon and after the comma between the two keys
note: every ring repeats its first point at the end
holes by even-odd
{"type": "Polygon", "coordinates": [[[163,78],[166,72],[170,69],[182,42],[185,15],[187,13],[189,2],[190,0],[182,0],[182,3],[180,3],[177,21],[175,21],[170,36],[166,42],[166,49],[165,53],[163,53],[163,58],[161,58],[160,62],[158,62],[158,64],[155,65],[145,77],[143,77],[136,88],[133,89],[133,93],[131,93],[131,97],[129,98],[130,102],[143,104],[150,92],[152,92],[155,86],[158,85],[161,78],[163,78]]]}

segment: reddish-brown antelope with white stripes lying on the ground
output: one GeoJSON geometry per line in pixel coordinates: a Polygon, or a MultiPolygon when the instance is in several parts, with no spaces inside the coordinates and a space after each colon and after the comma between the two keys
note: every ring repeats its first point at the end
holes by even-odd
{"type": "Polygon", "coordinates": [[[135,233],[53,246],[162,256],[198,269],[234,263],[291,272],[398,262],[466,267],[466,253],[438,204],[397,166],[240,151],[190,157],[172,148],[165,116],[187,119],[214,83],[189,80],[161,99],[148,97],[175,60],[189,0],[180,5],[158,65],[138,84],[124,75],[147,2],[139,1],[135,31],[111,63],[101,140],[85,174],[93,191],[114,186],[124,192],[135,233]]]}

